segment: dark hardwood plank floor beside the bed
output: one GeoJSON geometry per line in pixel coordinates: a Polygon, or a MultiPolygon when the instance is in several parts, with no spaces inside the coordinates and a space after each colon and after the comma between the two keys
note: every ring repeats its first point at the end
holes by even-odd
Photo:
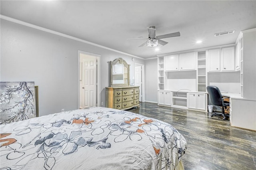
{"type": "MultiPolygon", "coordinates": [[[[185,170],[256,170],[256,132],[210,113],[140,103],[128,111],[165,121],[187,140],[185,170]]],[[[242,114],[242,113],[241,113],[242,114]]]]}

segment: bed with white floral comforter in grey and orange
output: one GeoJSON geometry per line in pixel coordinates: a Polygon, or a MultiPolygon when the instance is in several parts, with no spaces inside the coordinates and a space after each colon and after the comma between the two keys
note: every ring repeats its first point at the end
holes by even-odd
{"type": "Polygon", "coordinates": [[[91,107],[0,125],[1,170],[178,169],[186,140],[168,123],[91,107]]]}

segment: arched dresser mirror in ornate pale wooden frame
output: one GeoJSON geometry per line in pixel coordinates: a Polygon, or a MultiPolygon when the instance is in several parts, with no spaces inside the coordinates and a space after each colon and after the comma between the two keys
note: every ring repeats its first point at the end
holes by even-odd
{"type": "Polygon", "coordinates": [[[129,86],[130,65],[122,58],[110,61],[110,87],[129,86]]]}

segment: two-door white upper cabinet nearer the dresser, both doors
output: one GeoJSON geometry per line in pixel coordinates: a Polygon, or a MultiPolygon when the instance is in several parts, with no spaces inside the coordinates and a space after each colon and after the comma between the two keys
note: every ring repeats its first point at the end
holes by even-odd
{"type": "Polygon", "coordinates": [[[193,69],[196,69],[195,52],[164,56],[164,71],[193,69]]]}

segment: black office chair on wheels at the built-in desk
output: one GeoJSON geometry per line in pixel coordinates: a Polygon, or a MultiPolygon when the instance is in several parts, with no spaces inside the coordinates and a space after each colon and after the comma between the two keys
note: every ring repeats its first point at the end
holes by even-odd
{"type": "Polygon", "coordinates": [[[229,102],[224,101],[224,99],[227,99],[228,97],[222,97],[219,88],[216,86],[207,86],[206,89],[209,94],[211,103],[213,105],[222,107],[221,113],[212,113],[211,117],[213,117],[214,115],[222,115],[223,120],[226,120],[226,117],[229,117],[229,115],[225,114],[224,108],[227,109],[227,106],[229,106],[229,102]]]}

